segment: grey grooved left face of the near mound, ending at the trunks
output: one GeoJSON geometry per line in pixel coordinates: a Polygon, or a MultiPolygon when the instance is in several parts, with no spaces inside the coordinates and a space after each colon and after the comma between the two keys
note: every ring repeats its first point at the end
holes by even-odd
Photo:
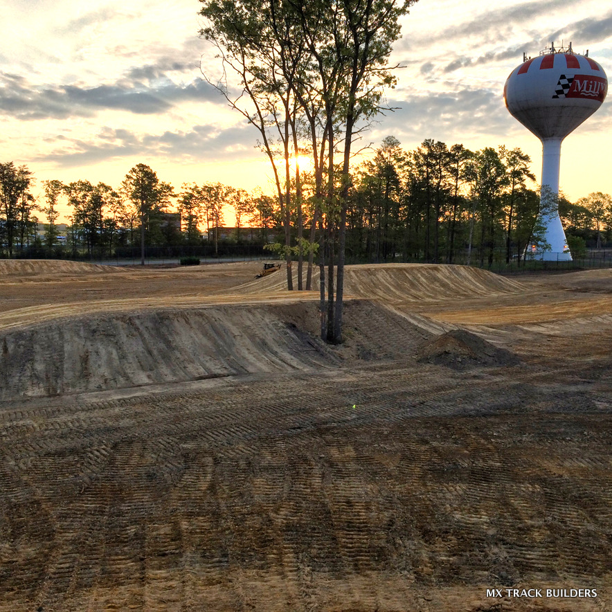
{"type": "Polygon", "coordinates": [[[164,384],[334,361],[271,307],[116,313],[0,334],[0,400],[164,384]]]}

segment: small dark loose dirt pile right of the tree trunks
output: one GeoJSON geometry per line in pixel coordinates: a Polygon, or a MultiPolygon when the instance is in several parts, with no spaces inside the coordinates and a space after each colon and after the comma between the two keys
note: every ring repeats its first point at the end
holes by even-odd
{"type": "Polygon", "coordinates": [[[519,359],[466,330],[451,330],[422,345],[417,361],[456,370],[470,366],[515,366],[519,359]]]}

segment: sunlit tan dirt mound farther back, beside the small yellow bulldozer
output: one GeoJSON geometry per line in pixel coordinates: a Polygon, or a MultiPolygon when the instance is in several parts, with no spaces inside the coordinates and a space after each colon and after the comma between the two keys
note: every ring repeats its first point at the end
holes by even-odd
{"type": "MultiPolygon", "coordinates": [[[[305,275],[304,275],[305,278],[305,275]]],[[[297,277],[294,275],[294,285],[297,277]]],[[[237,288],[241,294],[287,288],[284,269],[237,288]]],[[[312,289],[318,291],[318,269],[312,289]]],[[[389,302],[438,301],[524,291],[520,282],[469,266],[441,264],[365,264],[345,268],[345,294],[389,302]]]]}

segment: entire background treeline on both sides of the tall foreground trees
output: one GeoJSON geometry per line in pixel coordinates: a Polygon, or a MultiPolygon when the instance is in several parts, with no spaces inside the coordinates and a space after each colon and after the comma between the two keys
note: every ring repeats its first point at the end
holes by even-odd
{"type": "MultiPolygon", "coordinates": [[[[426,140],[405,151],[393,136],[351,174],[346,253],[354,262],[426,261],[491,265],[521,259],[538,240],[540,195],[534,189],[530,158],[520,149],[426,140]]],[[[247,238],[285,254],[285,213],[277,199],[222,183],[183,183],[175,192],[149,166],[138,164],[121,185],[87,180],[44,181],[44,195],[32,194],[33,173],[26,166],[0,163],[0,247],[8,257],[45,253],[57,257],[112,257],[120,249],[146,246],[240,243],[247,238]],[[60,242],[58,206],[71,210],[60,242]],[[220,233],[233,210],[231,236],[220,233]],[[37,235],[37,224],[46,224],[37,235]],[[246,230],[246,226],[256,230],[246,230]],[[210,236],[210,242],[206,239],[210,236]]],[[[295,188],[295,185],[294,185],[295,188]]],[[[316,184],[302,171],[300,222],[313,226],[314,240],[298,236],[298,210],[289,215],[289,257],[317,251],[316,184]]],[[[293,198],[296,201],[296,198],[293,198]]],[[[572,203],[561,195],[559,213],[574,256],[586,246],[612,241],[612,198],[594,192],[572,203]]]]}

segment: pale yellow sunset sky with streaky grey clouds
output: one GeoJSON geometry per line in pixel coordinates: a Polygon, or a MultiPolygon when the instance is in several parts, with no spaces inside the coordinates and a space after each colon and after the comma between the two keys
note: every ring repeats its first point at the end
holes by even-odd
{"type": "MultiPolygon", "coordinates": [[[[255,128],[202,79],[221,75],[198,37],[197,0],[3,0],[0,161],[42,181],[87,179],[118,188],[136,163],[162,181],[222,181],[270,190],[255,128]]],[[[400,64],[380,116],[359,147],[395,136],[449,147],[521,147],[541,175],[541,144],[507,112],[503,84],[554,41],[573,43],[612,75],[607,0],[420,0],[402,20],[400,64]]],[[[612,193],[612,96],[564,141],[561,190],[575,201],[612,193]]],[[[368,150],[366,149],[365,154],[368,150]]],[[[62,211],[64,214],[66,210],[62,211]]]]}

